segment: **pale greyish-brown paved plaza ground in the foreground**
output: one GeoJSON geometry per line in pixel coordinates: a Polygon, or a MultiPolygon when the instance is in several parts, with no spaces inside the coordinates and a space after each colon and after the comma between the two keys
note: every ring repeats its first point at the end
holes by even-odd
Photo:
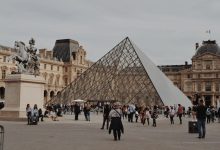
{"type": "MultiPolygon", "coordinates": [[[[91,115],[91,121],[84,121],[83,115],[75,121],[66,115],[59,121],[45,119],[39,125],[28,126],[25,122],[3,122],[5,127],[4,150],[219,150],[220,123],[207,125],[206,139],[196,138],[188,133],[188,118],[183,124],[170,125],[169,120],[160,117],[157,127],[128,123],[124,120],[125,134],[121,141],[114,141],[107,130],[100,130],[102,115],[91,115]]],[[[152,121],[152,120],[151,120],[152,121]]]]}

